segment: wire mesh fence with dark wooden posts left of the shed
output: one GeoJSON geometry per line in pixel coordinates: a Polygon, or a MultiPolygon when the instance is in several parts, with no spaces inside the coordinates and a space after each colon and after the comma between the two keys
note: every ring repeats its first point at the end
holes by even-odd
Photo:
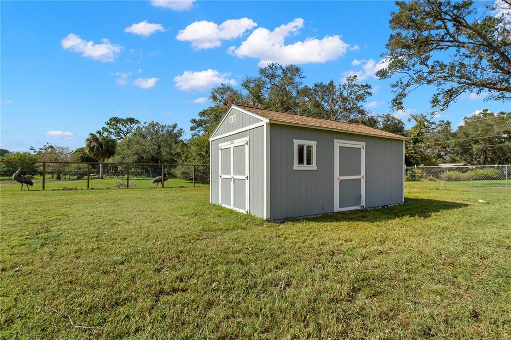
{"type": "Polygon", "coordinates": [[[0,162],[3,190],[176,188],[209,182],[208,164],[0,162]]]}

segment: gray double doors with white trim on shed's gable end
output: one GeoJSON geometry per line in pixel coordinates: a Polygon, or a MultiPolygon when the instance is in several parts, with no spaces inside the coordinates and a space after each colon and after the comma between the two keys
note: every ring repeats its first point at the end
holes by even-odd
{"type": "Polygon", "coordinates": [[[224,207],[249,210],[248,138],[220,144],[219,201],[224,207]]]}

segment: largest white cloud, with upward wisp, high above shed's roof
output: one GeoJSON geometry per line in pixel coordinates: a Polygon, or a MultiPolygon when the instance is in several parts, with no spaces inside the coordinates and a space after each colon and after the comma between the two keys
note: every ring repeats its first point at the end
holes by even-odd
{"type": "Polygon", "coordinates": [[[326,36],[322,39],[307,38],[304,41],[286,45],[285,38],[297,33],[302,27],[304,27],[304,19],[296,18],[273,31],[258,28],[239,47],[229,47],[228,52],[239,58],[258,58],[259,66],[263,67],[271,62],[324,63],[342,56],[350,47],[338,35],[326,36]]]}

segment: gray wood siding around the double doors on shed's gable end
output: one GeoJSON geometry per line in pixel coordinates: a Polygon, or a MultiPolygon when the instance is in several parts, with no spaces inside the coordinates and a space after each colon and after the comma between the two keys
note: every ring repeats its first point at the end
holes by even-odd
{"type": "MultiPolygon", "coordinates": [[[[228,119],[228,118],[227,118],[228,119]]],[[[238,118],[237,118],[238,119],[238,118]]],[[[228,121],[227,121],[228,123],[228,121]]],[[[218,200],[219,185],[219,144],[226,141],[249,137],[248,141],[248,178],[250,213],[264,217],[264,126],[240,132],[211,142],[211,195],[210,201],[220,204],[218,200]]]]}

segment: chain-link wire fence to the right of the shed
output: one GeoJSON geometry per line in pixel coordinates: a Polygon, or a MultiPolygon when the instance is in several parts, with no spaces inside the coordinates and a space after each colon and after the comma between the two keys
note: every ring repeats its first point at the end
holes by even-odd
{"type": "Polygon", "coordinates": [[[405,185],[420,182],[417,183],[420,187],[440,190],[509,193],[510,181],[511,165],[407,166],[405,169],[405,185]]]}

